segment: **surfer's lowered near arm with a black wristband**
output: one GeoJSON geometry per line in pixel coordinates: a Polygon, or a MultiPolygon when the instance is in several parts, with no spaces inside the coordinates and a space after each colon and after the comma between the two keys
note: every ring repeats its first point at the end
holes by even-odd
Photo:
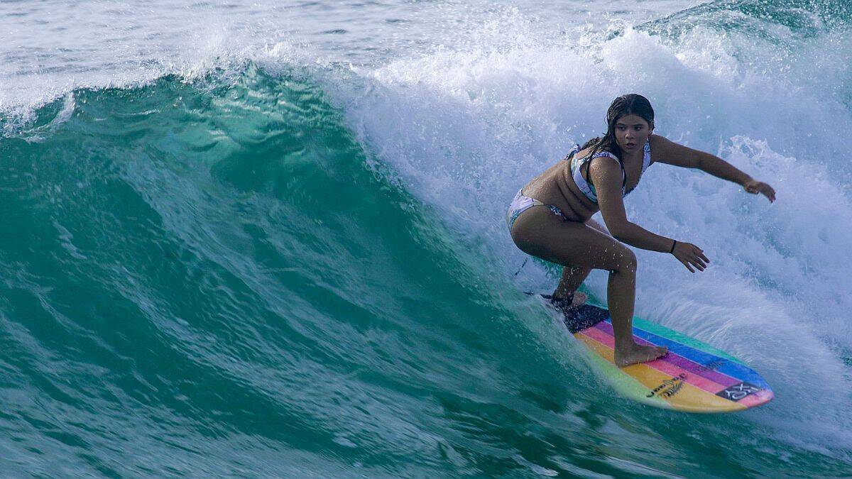
{"type": "Polygon", "coordinates": [[[648,251],[671,253],[683,266],[694,273],[693,267],[704,271],[710,260],[704,250],[691,243],[676,241],[630,222],[621,196],[621,167],[618,161],[599,157],[590,161],[589,176],[597,191],[597,204],[601,208],[603,221],[613,238],[636,248],[648,251]]]}

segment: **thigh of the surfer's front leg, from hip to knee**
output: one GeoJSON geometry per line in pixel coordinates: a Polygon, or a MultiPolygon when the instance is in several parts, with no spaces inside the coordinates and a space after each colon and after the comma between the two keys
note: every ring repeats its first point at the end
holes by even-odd
{"type": "Polygon", "coordinates": [[[512,240],[521,251],[562,266],[636,271],[630,248],[582,222],[565,221],[545,206],[518,216],[512,240]]]}

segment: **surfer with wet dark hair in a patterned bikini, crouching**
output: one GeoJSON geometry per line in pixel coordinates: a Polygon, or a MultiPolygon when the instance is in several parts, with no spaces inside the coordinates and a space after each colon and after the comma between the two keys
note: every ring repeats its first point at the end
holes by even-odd
{"type": "Polygon", "coordinates": [[[506,222],[515,245],[527,254],[561,264],[551,302],[563,312],[584,301],[574,291],[592,268],[609,271],[607,307],[615,333],[615,363],[653,361],[666,349],[633,341],[636,255],[625,245],[674,255],[690,272],[710,260],[696,245],[653,234],[627,220],[624,197],[655,163],[698,168],[735,182],[748,193],[775,200],[772,187],[725,160],[653,135],[653,108],[642,95],[616,98],[607,110],[607,133],[533,178],[515,195],[506,222]],[[607,228],[591,219],[601,211],[607,228]],[[608,230],[608,231],[607,231],[608,230]]]}

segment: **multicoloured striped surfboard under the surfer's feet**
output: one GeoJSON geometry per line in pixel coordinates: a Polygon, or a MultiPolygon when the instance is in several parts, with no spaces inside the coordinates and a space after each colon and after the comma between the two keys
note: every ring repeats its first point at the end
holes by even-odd
{"type": "Polygon", "coordinates": [[[734,356],[638,317],[633,318],[636,343],[665,346],[669,352],[619,368],[613,361],[613,322],[607,309],[584,303],[563,315],[550,301],[544,303],[584,345],[590,365],[627,398],[689,413],[744,411],[774,398],[766,380],[734,356]]]}

